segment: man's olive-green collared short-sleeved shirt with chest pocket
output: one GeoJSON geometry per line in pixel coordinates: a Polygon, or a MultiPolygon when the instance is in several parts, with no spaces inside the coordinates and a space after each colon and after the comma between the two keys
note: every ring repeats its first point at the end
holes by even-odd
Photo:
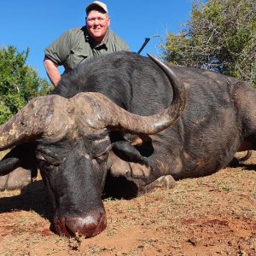
{"type": "Polygon", "coordinates": [[[112,30],[108,29],[104,42],[96,45],[94,40],[90,38],[86,26],[83,26],[64,32],[60,38],[57,38],[53,44],[44,50],[44,54],[58,66],[63,65],[65,73],[67,73],[90,58],[119,50],[130,49],[112,30]]]}

